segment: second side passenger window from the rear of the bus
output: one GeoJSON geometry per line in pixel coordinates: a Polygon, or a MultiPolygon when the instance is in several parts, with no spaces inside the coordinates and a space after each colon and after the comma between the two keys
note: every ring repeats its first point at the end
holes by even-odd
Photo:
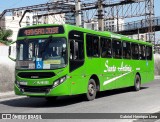
{"type": "Polygon", "coordinates": [[[144,45],[139,45],[139,59],[146,59],[146,47],[144,45]]]}

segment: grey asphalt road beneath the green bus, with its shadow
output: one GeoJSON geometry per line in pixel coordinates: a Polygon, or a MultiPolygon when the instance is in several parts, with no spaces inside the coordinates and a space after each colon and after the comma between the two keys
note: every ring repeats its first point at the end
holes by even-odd
{"type": "MultiPolygon", "coordinates": [[[[0,99],[0,113],[156,113],[160,111],[160,80],[129,88],[98,93],[94,101],[82,96],[59,97],[53,103],[44,98],[0,99]]],[[[125,120],[127,121],[127,120],[125,120]]],[[[156,120],[157,121],[157,120],[156,120]]]]}

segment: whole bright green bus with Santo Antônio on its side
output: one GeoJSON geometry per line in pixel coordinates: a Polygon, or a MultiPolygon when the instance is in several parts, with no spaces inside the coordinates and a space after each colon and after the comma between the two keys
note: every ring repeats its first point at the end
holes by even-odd
{"type": "MultiPolygon", "coordinates": [[[[152,44],[73,25],[21,28],[16,41],[16,95],[45,97],[132,87],[154,79],[152,44]]],[[[10,51],[9,51],[10,53],[10,51]]]]}

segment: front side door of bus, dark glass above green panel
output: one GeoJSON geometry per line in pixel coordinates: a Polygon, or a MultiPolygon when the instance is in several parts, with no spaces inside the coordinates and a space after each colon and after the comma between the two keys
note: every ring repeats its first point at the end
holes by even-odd
{"type": "Polygon", "coordinates": [[[71,94],[85,92],[84,35],[79,31],[69,33],[69,76],[71,94]]]}

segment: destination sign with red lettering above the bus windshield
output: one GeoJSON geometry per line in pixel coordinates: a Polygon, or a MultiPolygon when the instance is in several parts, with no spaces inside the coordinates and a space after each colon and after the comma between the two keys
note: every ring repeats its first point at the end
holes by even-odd
{"type": "Polygon", "coordinates": [[[23,28],[19,31],[18,36],[37,36],[37,35],[49,35],[49,34],[62,34],[64,33],[63,26],[45,26],[34,28],[23,28]]]}

